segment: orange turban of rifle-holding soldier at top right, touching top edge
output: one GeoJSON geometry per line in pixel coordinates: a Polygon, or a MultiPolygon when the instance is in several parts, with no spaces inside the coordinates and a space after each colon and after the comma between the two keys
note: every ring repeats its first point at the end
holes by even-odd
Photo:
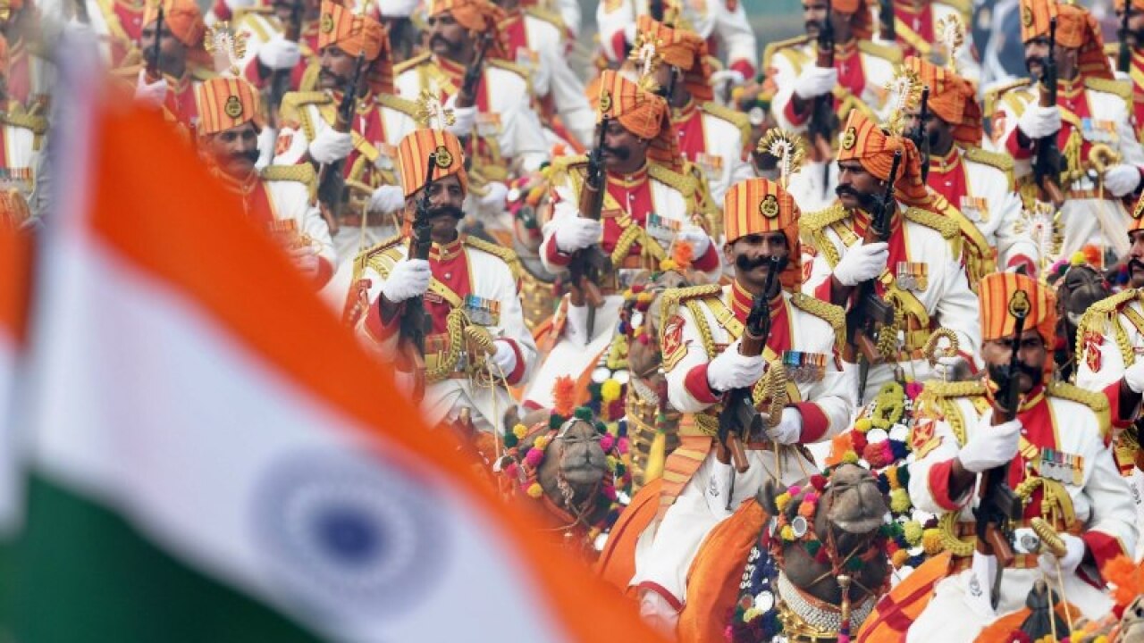
{"type": "Polygon", "coordinates": [[[1112,65],[1104,55],[1101,25],[1083,7],[1054,0],[1020,0],[1020,40],[1048,38],[1049,21],[1057,18],[1057,45],[1080,49],[1080,72],[1093,78],[1112,78],[1112,65]]]}

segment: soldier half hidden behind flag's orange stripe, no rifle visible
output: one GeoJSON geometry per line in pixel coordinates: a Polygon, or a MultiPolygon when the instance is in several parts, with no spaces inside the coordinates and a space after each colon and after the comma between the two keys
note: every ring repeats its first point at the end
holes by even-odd
{"type": "Polygon", "coordinates": [[[315,284],[334,272],[334,245],[312,191],[309,165],[269,166],[259,172],[259,129],[263,127],[257,90],[240,78],[213,78],[194,89],[200,117],[198,144],[212,173],[243,199],[243,212],[289,254],[315,284]]]}

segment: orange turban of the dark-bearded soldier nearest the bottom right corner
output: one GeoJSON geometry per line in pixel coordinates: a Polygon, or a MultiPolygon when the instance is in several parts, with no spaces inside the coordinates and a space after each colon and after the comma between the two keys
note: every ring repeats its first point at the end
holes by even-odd
{"type": "Polygon", "coordinates": [[[1048,286],[1018,272],[992,272],[982,278],[978,287],[983,340],[999,340],[1016,331],[1017,320],[1009,313],[1009,302],[1018,291],[1024,291],[1023,297],[1017,296],[1028,302],[1025,328],[1036,328],[1047,346],[1056,344],[1057,303],[1048,286]]]}

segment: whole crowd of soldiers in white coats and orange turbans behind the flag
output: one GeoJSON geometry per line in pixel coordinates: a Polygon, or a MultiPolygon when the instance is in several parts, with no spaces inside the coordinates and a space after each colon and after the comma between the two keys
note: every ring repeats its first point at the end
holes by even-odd
{"type": "MultiPolygon", "coordinates": [[[[427,422],[665,633],[707,640],[681,614],[740,508],[803,485],[811,517],[808,481],[879,466],[859,424],[895,390],[882,491],[932,517],[909,551],[948,557],[906,602],[922,559],[896,572],[889,608],[852,611],[841,567],[835,602],[787,590],[788,640],[972,641],[1041,580],[1078,618],[1123,612],[1144,0],[1107,46],[1079,3],[1022,0],[1027,77],[984,88],[961,0],[803,0],[805,34],[769,43],[738,0],[601,0],[594,43],[574,0],[61,7],[0,7],[0,221],[51,223],[47,41],[86,30],[427,422]]],[[[762,541],[803,539],[777,519],[762,541]]]]}

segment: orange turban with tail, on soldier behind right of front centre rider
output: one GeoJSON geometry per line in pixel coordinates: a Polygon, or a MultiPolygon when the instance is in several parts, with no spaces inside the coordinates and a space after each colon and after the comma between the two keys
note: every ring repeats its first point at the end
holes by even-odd
{"type": "Polygon", "coordinates": [[[893,183],[895,196],[907,206],[925,207],[931,199],[922,183],[921,154],[914,142],[905,136],[887,134],[860,111],[850,110],[847,125],[842,128],[837,160],[857,160],[866,172],[885,181],[890,177],[897,150],[901,150],[901,162],[893,183]]]}

